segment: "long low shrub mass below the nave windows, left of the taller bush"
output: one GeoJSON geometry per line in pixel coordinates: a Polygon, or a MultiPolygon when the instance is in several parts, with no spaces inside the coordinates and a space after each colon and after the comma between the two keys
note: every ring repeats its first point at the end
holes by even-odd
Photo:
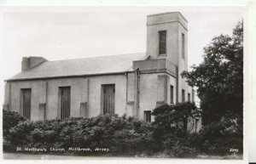
{"type": "MultiPolygon", "coordinates": [[[[70,118],[65,121],[49,120],[44,122],[20,122],[9,130],[9,143],[35,148],[79,147],[109,149],[109,156],[134,156],[150,154],[154,143],[152,126],[126,116],[96,116],[93,118],[70,118]]],[[[61,152],[62,153],[62,152],[61,152]]],[[[79,155],[95,155],[101,152],[79,152],[79,155]]],[[[104,152],[106,155],[106,152],[104,152]]]]}

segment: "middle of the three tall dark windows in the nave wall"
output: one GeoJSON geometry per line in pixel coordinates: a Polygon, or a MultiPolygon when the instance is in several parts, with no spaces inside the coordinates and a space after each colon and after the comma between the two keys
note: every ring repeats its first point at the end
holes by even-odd
{"type": "Polygon", "coordinates": [[[70,116],[70,87],[61,87],[59,89],[61,104],[61,120],[70,116]]]}

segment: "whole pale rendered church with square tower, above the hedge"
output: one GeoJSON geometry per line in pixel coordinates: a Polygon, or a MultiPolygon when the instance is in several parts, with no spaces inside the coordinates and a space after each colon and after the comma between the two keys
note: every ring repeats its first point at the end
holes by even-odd
{"type": "MultiPolygon", "coordinates": [[[[5,81],[4,110],[32,121],[101,114],[153,122],[164,104],[194,101],[181,76],[188,70],[188,21],[179,12],[147,17],[145,54],[48,61],[23,57],[21,71],[5,81]]],[[[200,128],[199,119],[188,125],[200,128]]]]}

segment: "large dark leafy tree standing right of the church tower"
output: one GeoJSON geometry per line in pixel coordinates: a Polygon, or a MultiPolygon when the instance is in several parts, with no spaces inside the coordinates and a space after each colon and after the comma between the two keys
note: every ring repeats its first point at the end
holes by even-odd
{"type": "Polygon", "coordinates": [[[226,117],[242,127],[243,21],[238,22],[231,37],[214,37],[204,48],[203,62],[182,75],[198,88],[205,125],[226,117]]]}

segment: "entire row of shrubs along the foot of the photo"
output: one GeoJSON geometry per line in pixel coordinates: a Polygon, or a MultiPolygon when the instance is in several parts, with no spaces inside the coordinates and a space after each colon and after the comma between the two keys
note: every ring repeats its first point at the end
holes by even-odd
{"type": "Polygon", "coordinates": [[[47,120],[32,122],[18,113],[3,110],[3,152],[17,152],[25,148],[46,151],[21,151],[22,153],[47,153],[63,155],[51,148],[89,148],[91,151],[66,151],[79,156],[167,156],[196,157],[201,154],[225,156],[242,153],[242,131],[235,119],[222,119],[203,127],[200,133],[184,135],[183,114],[195,115],[194,104],[163,105],[154,109],[155,121],[138,121],[127,116],[96,116],[70,118],[65,121],[47,120]],[[184,107],[183,107],[184,106],[184,107]],[[191,111],[189,111],[191,110],[191,111]],[[99,150],[97,150],[99,149],[99,150]]]}

